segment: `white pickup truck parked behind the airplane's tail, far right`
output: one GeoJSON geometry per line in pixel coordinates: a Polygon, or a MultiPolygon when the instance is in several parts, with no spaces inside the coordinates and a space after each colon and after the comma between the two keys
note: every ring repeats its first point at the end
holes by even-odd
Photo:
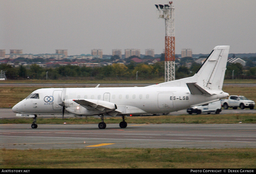
{"type": "Polygon", "coordinates": [[[245,96],[230,95],[228,96],[228,99],[221,99],[221,105],[224,109],[228,109],[229,107],[232,107],[233,109],[237,109],[237,107],[240,107],[241,109],[253,109],[255,102],[247,99],[245,96]]]}

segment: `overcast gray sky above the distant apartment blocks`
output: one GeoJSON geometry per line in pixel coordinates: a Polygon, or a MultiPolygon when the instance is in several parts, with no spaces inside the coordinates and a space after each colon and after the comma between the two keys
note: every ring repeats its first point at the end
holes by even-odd
{"type": "MultiPolygon", "coordinates": [[[[68,55],[102,49],[164,49],[164,19],[154,4],[167,0],[1,0],[0,49],[68,55]]],[[[230,53],[256,52],[255,0],[174,0],[175,53],[191,48],[210,53],[230,45],[230,53]]]]}

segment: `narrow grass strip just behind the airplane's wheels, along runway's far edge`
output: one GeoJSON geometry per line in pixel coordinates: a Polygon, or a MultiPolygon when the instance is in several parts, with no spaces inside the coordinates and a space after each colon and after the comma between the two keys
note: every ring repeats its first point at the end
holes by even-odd
{"type": "MultiPolygon", "coordinates": [[[[119,124],[121,117],[106,117],[106,124],[119,124]]],[[[0,119],[0,124],[31,124],[32,118],[0,119]]],[[[159,115],[159,116],[128,116],[125,121],[128,124],[238,124],[256,123],[256,114],[201,114],[201,115],[159,115]]],[[[100,117],[70,117],[65,118],[37,118],[37,124],[98,124],[100,117]]]]}

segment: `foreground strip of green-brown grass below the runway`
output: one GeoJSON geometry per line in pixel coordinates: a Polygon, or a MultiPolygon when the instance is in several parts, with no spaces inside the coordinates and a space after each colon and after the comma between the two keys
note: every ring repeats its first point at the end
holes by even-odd
{"type": "Polygon", "coordinates": [[[0,149],[0,168],[256,168],[256,149],[0,149]]]}

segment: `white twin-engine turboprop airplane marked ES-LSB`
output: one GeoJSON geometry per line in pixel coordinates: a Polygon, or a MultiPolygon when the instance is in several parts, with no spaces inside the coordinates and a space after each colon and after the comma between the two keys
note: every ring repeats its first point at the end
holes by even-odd
{"type": "Polygon", "coordinates": [[[215,102],[228,96],[222,85],[229,47],[216,46],[192,77],[145,87],[38,89],[12,110],[16,116],[33,117],[32,128],[37,128],[37,115],[66,113],[99,115],[99,128],[104,129],[104,115],[122,116],[119,125],[125,128],[126,115],[169,113],[215,102]]]}

